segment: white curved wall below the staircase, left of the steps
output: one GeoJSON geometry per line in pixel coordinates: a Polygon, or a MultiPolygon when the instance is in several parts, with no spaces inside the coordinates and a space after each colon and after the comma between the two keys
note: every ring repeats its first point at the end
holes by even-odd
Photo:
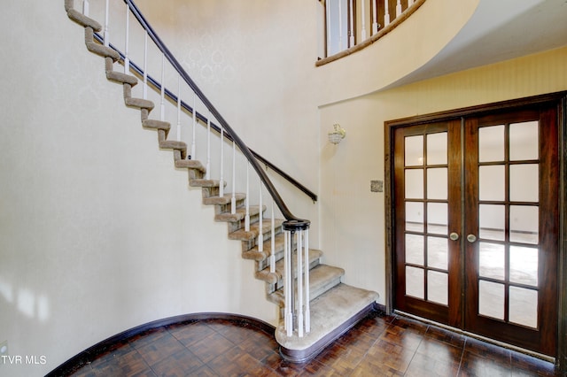
{"type": "Polygon", "coordinates": [[[240,242],[124,106],[63,4],[9,2],[0,15],[0,343],[47,361],[0,363],[0,375],[43,375],[185,313],[276,324],[240,242]]]}

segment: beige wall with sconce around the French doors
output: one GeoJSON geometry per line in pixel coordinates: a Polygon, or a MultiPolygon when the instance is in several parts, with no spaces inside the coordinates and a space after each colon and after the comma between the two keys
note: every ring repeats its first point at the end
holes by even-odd
{"type": "Polygon", "coordinates": [[[567,48],[487,65],[322,106],[321,247],[345,282],[375,289],[384,304],[384,121],[567,90],[567,48]],[[346,139],[325,140],[340,123],[346,139]]]}

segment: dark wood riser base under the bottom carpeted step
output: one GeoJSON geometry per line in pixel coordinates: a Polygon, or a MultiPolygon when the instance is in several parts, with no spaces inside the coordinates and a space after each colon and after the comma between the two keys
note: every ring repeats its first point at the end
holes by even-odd
{"type": "Polygon", "coordinates": [[[329,334],[322,337],[318,342],[315,342],[312,346],[305,350],[289,350],[284,347],[280,347],[280,355],[285,360],[291,363],[303,364],[315,358],[322,350],[327,348],[330,343],[335,342],[341,335],[344,335],[348,330],[354,327],[361,319],[364,319],[369,315],[370,312],[379,312],[380,309],[378,304],[369,304],[367,307],[362,309],[360,312],[356,313],[351,319],[343,323],[340,327],[331,331],[329,334]]]}

